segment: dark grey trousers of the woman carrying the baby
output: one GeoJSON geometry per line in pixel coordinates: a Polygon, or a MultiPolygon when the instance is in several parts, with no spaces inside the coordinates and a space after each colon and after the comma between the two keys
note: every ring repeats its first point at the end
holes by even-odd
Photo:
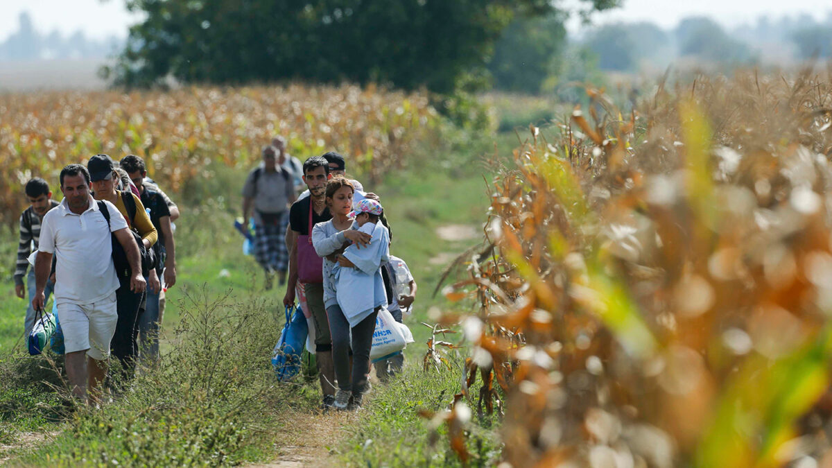
{"type": "Polygon", "coordinates": [[[337,304],[326,310],[329,317],[329,333],[332,335],[332,361],[335,365],[335,378],[338,388],[352,391],[359,395],[367,390],[369,375],[369,349],[373,346],[373,332],[375,331],[375,317],[378,311],[359,321],[352,328],[353,340],[349,341],[349,321],[337,304]],[[353,372],[349,375],[349,350],[353,350],[353,372]]]}

